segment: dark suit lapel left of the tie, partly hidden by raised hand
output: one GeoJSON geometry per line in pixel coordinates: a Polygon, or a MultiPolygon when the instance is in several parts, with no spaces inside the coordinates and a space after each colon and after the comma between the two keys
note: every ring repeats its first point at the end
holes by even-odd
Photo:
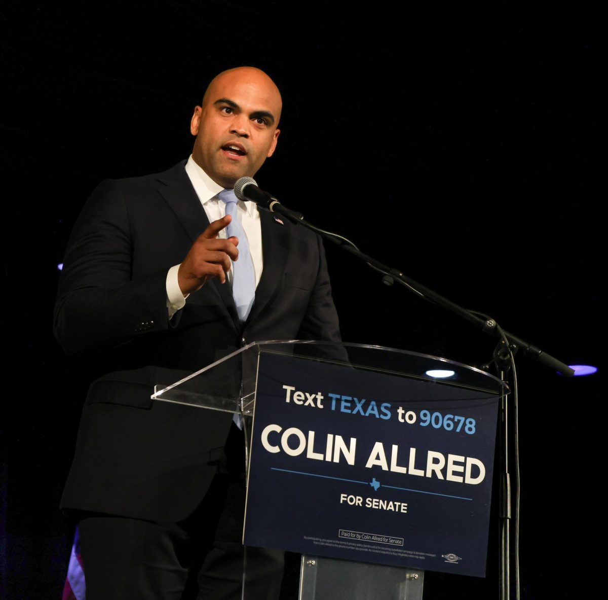
{"type": "MultiPolygon", "coordinates": [[[[209,218],[207,218],[205,209],[202,208],[201,201],[196,195],[192,183],[190,183],[190,178],[188,178],[184,166],[185,163],[180,162],[173,169],[159,175],[157,178],[159,182],[158,191],[173,209],[188,237],[190,237],[190,241],[194,243],[209,226],[209,218]]],[[[230,285],[221,284],[216,277],[213,278],[211,285],[219,295],[219,299],[226,307],[230,317],[232,317],[235,326],[240,330],[241,325],[230,285]]]]}

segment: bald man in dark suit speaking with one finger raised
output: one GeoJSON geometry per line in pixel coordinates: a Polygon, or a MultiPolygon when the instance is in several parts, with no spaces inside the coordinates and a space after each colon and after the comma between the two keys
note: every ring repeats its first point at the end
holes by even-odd
{"type": "MultiPolygon", "coordinates": [[[[102,181],[75,223],[54,327],[94,370],[61,500],[87,600],[241,598],[243,433],[150,396],[252,341],[340,340],[320,238],[232,191],[275,152],[281,110],[263,71],[222,72],[190,158],[102,181]]],[[[280,553],[247,553],[250,597],[278,598],[281,576],[280,553]]]]}

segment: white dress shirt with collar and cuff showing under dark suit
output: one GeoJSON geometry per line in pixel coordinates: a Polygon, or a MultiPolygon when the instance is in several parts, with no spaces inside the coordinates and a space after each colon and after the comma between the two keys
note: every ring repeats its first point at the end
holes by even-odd
{"type": "MultiPolygon", "coordinates": [[[[215,183],[215,181],[196,164],[192,155],[188,158],[185,169],[188,178],[190,178],[192,186],[195,189],[196,195],[201,201],[202,208],[204,208],[207,218],[209,218],[209,222],[211,223],[224,217],[226,215],[226,204],[218,198],[219,192],[224,188],[215,183]]],[[[243,200],[238,201],[237,210],[238,220],[240,220],[241,225],[243,225],[245,235],[247,236],[247,242],[249,243],[249,252],[254,263],[255,285],[257,287],[258,283],[260,283],[263,267],[260,213],[254,202],[244,202],[243,200]]],[[[222,229],[222,231],[219,232],[218,237],[226,239],[226,229],[222,229]]],[[[167,273],[167,309],[169,318],[171,318],[179,309],[184,307],[186,298],[188,297],[184,297],[179,288],[178,270],[179,265],[175,265],[174,267],[171,267],[167,273]]],[[[228,271],[227,279],[229,283],[232,283],[232,269],[228,271]]]]}

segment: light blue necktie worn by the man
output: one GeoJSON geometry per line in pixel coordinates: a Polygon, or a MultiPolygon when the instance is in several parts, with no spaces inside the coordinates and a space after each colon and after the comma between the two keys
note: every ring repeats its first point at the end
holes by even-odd
{"type": "Polygon", "coordinates": [[[241,322],[247,320],[255,299],[255,273],[254,262],[249,253],[249,243],[243,225],[238,220],[238,198],[234,190],[222,190],[218,194],[219,200],[226,203],[226,214],[232,217],[230,225],[226,228],[228,237],[238,237],[238,260],[232,263],[232,296],[237,305],[238,316],[241,322]]]}

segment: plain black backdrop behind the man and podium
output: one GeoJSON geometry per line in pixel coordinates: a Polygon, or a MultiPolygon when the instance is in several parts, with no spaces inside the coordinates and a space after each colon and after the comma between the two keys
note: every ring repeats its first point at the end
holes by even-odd
{"type": "MultiPolygon", "coordinates": [[[[58,509],[84,382],[52,336],[67,236],[106,177],[187,158],[223,69],[282,91],[258,184],[306,219],[592,377],[518,354],[523,598],[583,598],[603,512],[599,446],[606,74],[599,8],[513,2],[26,1],[1,9],[5,306],[0,596],[58,599],[58,509]],[[451,4],[450,4],[451,6],[451,4]]],[[[491,359],[494,338],[327,248],[345,341],[491,359]]],[[[426,573],[425,598],[496,598],[426,573]]],[[[293,572],[291,577],[297,576],[293,572]]]]}

